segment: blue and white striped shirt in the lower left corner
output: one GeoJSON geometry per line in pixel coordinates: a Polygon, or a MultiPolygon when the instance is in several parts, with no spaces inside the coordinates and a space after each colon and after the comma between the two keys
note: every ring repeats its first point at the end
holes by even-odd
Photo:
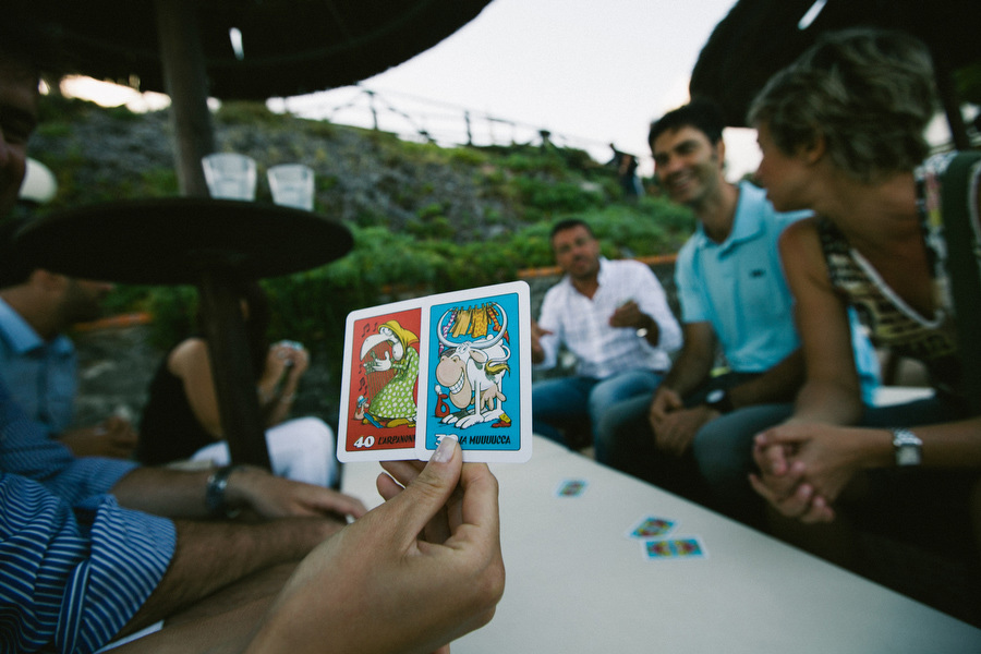
{"type": "Polygon", "coordinates": [[[132,468],[73,459],[0,385],[0,652],[94,652],[157,586],[173,523],[105,494],[132,468]]]}

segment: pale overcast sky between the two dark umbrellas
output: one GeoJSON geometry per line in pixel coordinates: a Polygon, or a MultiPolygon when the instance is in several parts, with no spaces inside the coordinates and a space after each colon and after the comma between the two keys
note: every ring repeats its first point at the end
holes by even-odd
{"type": "MultiPolygon", "coordinates": [[[[456,129],[455,108],[465,108],[576,141],[598,160],[609,143],[644,157],[652,119],[688,100],[688,82],[699,52],[735,0],[493,0],[471,23],[434,48],[362,83],[377,92],[383,129],[399,126],[407,112],[437,140],[456,129]],[[421,100],[438,101],[438,106],[421,100]],[[415,101],[419,100],[419,101],[415,101]],[[388,106],[396,111],[386,111],[388,106]],[[420,119],[419,117],[423,118],[420,119]]],[[[335,89],[293,98],[287,107],[338,122],[371,120],[368,99],[358,89],[335,89]],[[346,108],[347,107],[347,108],[346,108]]],[[[457,117],[460,112],[456,113],[457,117]]],[[[480,130],[510,137],[513,128],[472,121],[480,130]]],[[[759,159],[749,130],[726,134],[730,175],[759,159]]],[[[517,140],[526,133],[520,129],[517,140]]]]}

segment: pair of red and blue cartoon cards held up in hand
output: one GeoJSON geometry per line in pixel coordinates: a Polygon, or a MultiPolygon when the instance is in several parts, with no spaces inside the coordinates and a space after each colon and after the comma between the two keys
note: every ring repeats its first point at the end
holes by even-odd
{"type": "Polygon", "coordinates": [[[531,458],[531,306],[523,281],[351,312],[337,458],[427,461],[456,436],[464,461],[531,458]]]}

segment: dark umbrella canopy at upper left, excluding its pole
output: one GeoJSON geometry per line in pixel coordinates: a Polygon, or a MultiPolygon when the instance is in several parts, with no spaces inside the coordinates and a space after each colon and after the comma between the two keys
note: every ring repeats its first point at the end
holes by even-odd
{"type": "MultiPolygon", "coordinates": [[[[208,94],[264,100],[344,86],[380,73],[435,46],[488,2],[197,0],[191,7],[208,94]],[[232,28],[241,34],[241,55],[232,47],[232,28]]],[[[178,2],[39,0],[38,4],[59,28],[77,72],[168,93],[157,16],[178,2]]]]}

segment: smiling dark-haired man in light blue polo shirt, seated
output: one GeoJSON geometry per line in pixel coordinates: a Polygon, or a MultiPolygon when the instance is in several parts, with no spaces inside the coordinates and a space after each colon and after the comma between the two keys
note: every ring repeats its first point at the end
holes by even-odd
{"type": "MultiPolygon", "coordinates": [[[[779,214],[763,190],[726,181],[724,125],[714,105],[697,100],[651,126],[665,191],[699,221],[676,263],[685,344],[653,398],[606,412],[600,431],[611,436],[596,452],[605,463],[753,522],[762,505],[747,480],[752,436],[789,415],[803,380],[777,241],[808,213],[779,214]],[[728,372],[716,375],[719,352],[728,372]]],[[[868,339],[859,335],[856,344],[871,392],[877,360],[868,339]]]]}

